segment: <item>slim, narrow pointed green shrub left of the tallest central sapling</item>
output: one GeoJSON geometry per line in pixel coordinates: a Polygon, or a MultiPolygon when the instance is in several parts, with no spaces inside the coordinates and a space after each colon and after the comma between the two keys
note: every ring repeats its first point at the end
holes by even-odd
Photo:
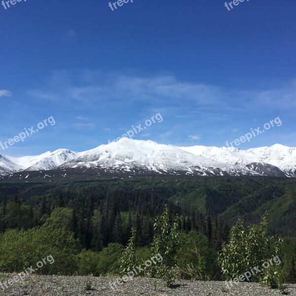
{"type": "Polygon", "coordinates": [[[121,259],[121,265],[120,265],[120,273],[121,275],[124,275],[128,273],[129,271],[132,271],[138,263],[137,257],[136,257],[136,239],[137,239],[137,232],[134,227],[132,227],[132,236],[128,241],[128,245],[126,246],[121,259]]]}

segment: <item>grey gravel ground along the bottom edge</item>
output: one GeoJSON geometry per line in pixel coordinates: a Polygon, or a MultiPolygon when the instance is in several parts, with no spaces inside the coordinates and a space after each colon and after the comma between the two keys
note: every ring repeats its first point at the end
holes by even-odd
{"type": "MultiPolygon", "coordinates": [[[[13,274],[0,274],[0,284],[13,278],[13,274]]],[[[0,295],[5,296],[274,296],[281,295],[277,290],[253,283],[239,283],[227,289],[224,282],[179,281],[173,289],[164,287],[164,282],[157,280],[156,290],[153,279],[135,278],[112,290],[112,277],[92,276],[38,276],[30,275],[23,282],[13,283],[0,295]],[[91,282],[91,290],[84,292],[86,282],[91,282]]],[[[285,295],[296,296],[296,285],[286,285],[285,295]]],[[[4,287],[5,288],[5,287],[4,287]]]]}

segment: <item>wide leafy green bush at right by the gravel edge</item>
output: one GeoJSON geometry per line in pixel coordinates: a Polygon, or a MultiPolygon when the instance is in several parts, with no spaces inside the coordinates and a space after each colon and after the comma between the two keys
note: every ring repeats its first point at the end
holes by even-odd
{"type": "MultiPolygon", "coordinates": [[[[229,242],[223,243],[222,251],[218,256],[218,263],[222,274],[227,280],[251,270],[255,266],[276,257],[280,250],[282,239],[266,236],[267,214],[261,217],[259,225],[253,224],[244,227],[243,220],[232,227],[229,242]]],[[[251,281],[259,281],[262,274],[252,275],[251,281]]]]}

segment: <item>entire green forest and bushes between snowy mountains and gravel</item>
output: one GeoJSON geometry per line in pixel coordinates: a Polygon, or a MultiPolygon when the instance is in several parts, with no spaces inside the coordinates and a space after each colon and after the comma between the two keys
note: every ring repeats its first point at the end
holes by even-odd
{"type": "Polygon", "coordinates": [[[122,275],[159,253],[161,268],[153,264],[141,275],[170,286],[176,278],[231,280],[279,256],[281,264],[250,278],[278,287],[296,283],[295,217],[296,182],[289,179],[3,180],[0,272],[20,272],[51,255],[54,264],[37,273],[122,275]],[[255,261],[243,260],[246,246],[255,261]]]}

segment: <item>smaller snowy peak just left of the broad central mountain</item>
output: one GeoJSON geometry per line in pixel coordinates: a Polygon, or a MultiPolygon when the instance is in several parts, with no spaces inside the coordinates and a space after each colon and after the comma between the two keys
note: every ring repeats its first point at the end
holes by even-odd
{"type": "Polygon", "coordinates": [[[26,171],[46,171],[54,169],[61,164],[74,159],[79,153],[69,149],[58,149],[53,152],[47,151],[37,156],[9,157],[26,171]]]}

